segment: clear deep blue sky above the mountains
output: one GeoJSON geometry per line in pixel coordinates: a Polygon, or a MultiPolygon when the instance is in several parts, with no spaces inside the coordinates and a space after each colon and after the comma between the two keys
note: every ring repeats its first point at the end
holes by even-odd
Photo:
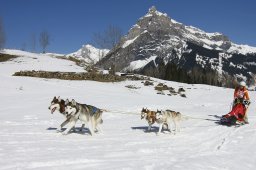
{"type": "MultiPolygon", "coordinates": [[[[71,53],[109,25],[124,34],[151,6],[185,25],[221,32],[233,42],[256,46],[254,0],[0,0],[6,48],[31,50],[32,35],[46,30],[48,52],[71,53]]],[[[36,50],[42,51],[37,41],[36,50]]]]}

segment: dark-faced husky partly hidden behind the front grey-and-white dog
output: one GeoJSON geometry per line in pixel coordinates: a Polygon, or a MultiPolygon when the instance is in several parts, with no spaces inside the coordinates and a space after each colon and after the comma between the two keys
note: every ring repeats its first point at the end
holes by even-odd
{"type": "MultiPolygon", "coordinates": [[[[59,111],[66,119],[69,118],[69,115],[65,112],[65,101],[60,98],[60,96],[57,98],[54,96],[54,98],[51,101],[51,105],[48,107],[49,110],[51,110],[51,113],[53,114],[56,110],[59,111]]],[[[57,131],[61,131],[61,129],[66,125],[66,121],[63,122],[60,127],[57,129],[57,131]]],[[[84,124],[82,124],[80,131],[82,131],[84,128],[84,124]]]]}

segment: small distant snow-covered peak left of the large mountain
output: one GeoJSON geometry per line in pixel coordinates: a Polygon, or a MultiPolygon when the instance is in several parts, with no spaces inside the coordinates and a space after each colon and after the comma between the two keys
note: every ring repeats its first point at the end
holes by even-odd
{"type": "Polygon", "coordinates": [[[78,51],[67,54],[66,56],[75,57],[79,60],[85,61],[89,65],[93,65],[104,58],[108,52],[108,49],[98,49],[92,45],[87,44],[83,45],[82,48],[78,51]]]}

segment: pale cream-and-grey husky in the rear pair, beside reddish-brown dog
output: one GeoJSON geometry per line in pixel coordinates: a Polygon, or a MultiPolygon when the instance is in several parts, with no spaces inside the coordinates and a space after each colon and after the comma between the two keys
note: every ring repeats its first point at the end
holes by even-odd
{"type": "Polygon", "coordinates": [[[162,127],[164,123],[168,124],[169,130],[171,131],[170,122],[173,121],[175,126],[175,132],[180,131],[180,121],[181,121],[181,113],[175,112],[172,110],[165,110],[165,111],[157,111],[156,112],[156,121],[160,124],[158,134],[161,133],[162,127]]]}

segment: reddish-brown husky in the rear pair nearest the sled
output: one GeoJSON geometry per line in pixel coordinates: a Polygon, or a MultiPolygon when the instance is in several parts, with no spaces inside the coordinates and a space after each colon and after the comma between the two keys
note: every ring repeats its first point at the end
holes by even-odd
{"type": "MultiPolygon", "coordinates": [[[[152,125],[156,122],[156,123],[161,123],[156,119],[156,112],[149,110],[147,108],[142,108],[141,110],[141,119],[146,119],[146,121],[148,122],[148,131],[151,130],[152,125]]],[[[166,128],[168,128],[168,125],[166,123],[164,123],[164,125],[166,125],[166,128]]]]}

